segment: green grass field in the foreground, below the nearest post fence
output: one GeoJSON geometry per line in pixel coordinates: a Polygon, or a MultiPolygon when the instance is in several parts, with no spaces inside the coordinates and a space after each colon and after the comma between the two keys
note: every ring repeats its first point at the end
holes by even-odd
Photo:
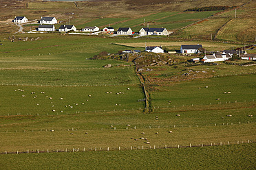
{"type": "Polygon", "coordinates": [[[0,157],[6,169],[255,169],[255,144],[0,157]]]}

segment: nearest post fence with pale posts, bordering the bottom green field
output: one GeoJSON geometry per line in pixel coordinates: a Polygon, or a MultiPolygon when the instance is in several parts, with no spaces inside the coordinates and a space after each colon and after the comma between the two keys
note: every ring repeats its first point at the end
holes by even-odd
{"type": "Polygon", "coordinates": [[[95,148],[72,148],[72,149],[47,149],[45,150],[30,150],[27,149],[26,151],[4,151],[1,152],[0,154],[32,154],[32,153],[58,153],[58,152],[78,152],[78,151],[128,151],[128,150],[143,150],[143,149],[174,149],[174,148],[187,148],[187,147],[213,147],[213,146],[222,146],[222,145],[239,145],[239,144],[244,144],[244,143],[255,143],[254,141],[251,140],[246,140],[246,141],[228,141],[226,143],[223,143],[222,141],[218,143],[200,143],[199,145],[193,145],[189,143],[189,145],[175,145],[175,146],[167,146],[167,145],[161,145],[161,146],[156,146],[156,145],[148,145],[145,143],[145,145],[138,145],[136,147],[131,146],[131,147],[95,147],[95,148]]]}

